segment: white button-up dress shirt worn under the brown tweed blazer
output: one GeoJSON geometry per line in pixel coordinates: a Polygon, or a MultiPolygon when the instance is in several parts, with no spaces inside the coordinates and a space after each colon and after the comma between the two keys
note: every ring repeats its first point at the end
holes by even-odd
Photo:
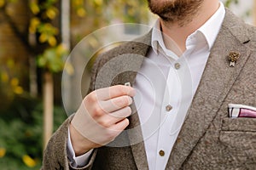
{"type": "MultiPolygon", "coordinates": [[[[134,101],[143,130],[150,170],[166,168],[224,14],[224,4],[220,3],[217,12],[201,28],[189,35],[186,50],[179,57],[166,48],[160,32],[160,20],[154,25],[152,49],[144,59],[133,84],[133,88],[137,89],[134,101]]],[[[90,153],[75,157],[70,136],[67,149],[74,167],[87,163],[90,153]]]]}

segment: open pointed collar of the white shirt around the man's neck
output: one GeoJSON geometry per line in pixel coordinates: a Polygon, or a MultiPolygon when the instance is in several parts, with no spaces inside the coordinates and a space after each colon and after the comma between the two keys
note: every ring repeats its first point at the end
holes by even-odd
{"type": "MultiPolygon", "coordinates": [[[[207,20],[207,22],[201,26],[198,30],[193,32],[189,37],[195,35],[199,32],[204,36],[207,41],[208,49],[212,48],[213,43],[215,42],[216,37],[218,36],[218,31],[224,20],[225,8],[222,2],[219,2],[218,10],[212,15],[212,17],[207,20]]],[[[188,38],[189,38],[188,37],[188,38]]],[[[166,45],[163,41],[162,32],[160,31],[160,20],[156,20],[153,30],[152,30],[152,40],[151,46],[155,54],[158,54],[159,48],[162,48],[164,51],[170,51],[166,48],[166,45]]]]}

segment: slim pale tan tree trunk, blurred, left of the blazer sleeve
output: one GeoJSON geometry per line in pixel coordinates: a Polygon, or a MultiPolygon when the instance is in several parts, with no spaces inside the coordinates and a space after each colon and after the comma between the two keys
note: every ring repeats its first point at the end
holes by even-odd
{"type": "Polygon", "coordinates": [[[49,71],[44,73],[44,145],[46,147],[53,132],[53,106],[54,106],[53,75],[49,71]]]}

